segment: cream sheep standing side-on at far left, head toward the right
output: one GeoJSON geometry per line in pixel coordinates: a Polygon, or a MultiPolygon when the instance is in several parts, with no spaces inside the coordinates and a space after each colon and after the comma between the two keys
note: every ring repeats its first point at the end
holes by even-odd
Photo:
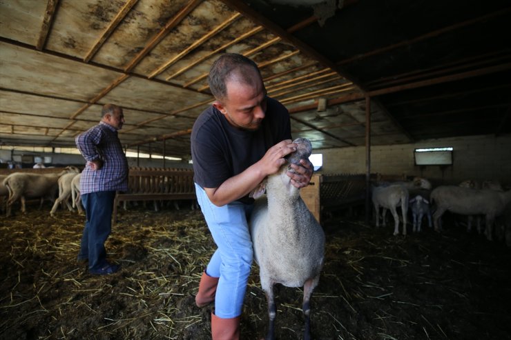
{"type": "Polygon", "coordinates": [[[55,197],[59,177],[68,172],[78,173],[74,166],[68,166],[59,173],[34,174],[30,172],[15,172],[3,180],[3,185],[9,189],[7,201],[7,216],[10,215],[12,204],[21,199],[21,212],[26,212],[26,199],[39,197],[55,197]]]}

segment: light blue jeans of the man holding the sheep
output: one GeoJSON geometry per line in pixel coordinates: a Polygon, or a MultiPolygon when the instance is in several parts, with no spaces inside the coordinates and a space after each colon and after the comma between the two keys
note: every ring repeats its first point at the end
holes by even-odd
{"type": "Polygon", "coordinates": [[[209,276],[220,277],[215,295],[215,315],[222,319],[238,317],[242,312],[253,258],[247,223],[253,205],[233,202],[218,207],[197,184],[195,192],[218,247],[206,267],[209,276]]]}

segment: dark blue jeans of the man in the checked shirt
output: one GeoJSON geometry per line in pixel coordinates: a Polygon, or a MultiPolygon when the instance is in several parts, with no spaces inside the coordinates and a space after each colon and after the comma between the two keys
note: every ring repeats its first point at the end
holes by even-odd
{"type": "Polygon", "coordinates": [[[88,259],[89,269],[99,269],[106,265],[105,241],[112,230],[114,199],[115,191],[81,195],[86,221],[78,259],[88,259]]]}

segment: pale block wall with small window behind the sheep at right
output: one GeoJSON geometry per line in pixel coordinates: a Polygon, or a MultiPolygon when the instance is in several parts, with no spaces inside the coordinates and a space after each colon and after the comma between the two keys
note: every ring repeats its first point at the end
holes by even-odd
{"type": "MultiPolygon", "coordinates": [[[[365,147],[314,150],[323,154],[320,173],[365,173],[365,147]]],[[[459,183],[465,179],[494,179],[511,186],[511,134],[430,139],[418,143],[371,148],[371,173],[406,174],[459,183]],[[452,146],[453,165],[419,167],[414,149],[452,146]]]]}

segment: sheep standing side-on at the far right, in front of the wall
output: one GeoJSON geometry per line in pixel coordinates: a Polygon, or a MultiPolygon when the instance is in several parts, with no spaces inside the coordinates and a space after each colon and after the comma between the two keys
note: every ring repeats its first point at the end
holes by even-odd
{"type": "Polygon", "coordinates": [[[486,238],[492,240],[493,222],[502,214],[504,207],[511,201],[511,190],[473,190],[459,186],[439,186],[431,193],[430,201],[436,205],[433,214],[434,230],[439,231],[438,219],[449,210],[455,214],[483,214],[486,221],[486,238]]]}

